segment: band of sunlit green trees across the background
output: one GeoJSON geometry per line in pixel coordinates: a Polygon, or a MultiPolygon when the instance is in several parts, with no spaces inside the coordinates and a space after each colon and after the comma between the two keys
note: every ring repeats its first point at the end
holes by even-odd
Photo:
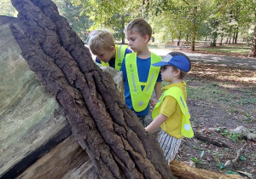
{"type": "MultiPolygon", "coordinates": [[[[253,40],[254,0],[54,0],[79,37],[86,42],[94,29],[108,29],[113,37],[125,43],[125,24],[144,18],[153,27],[153,40],[160,47],[181,40],[191,43],[211,38],[211,45],[236,43],[238,37],[253,40]],[[223,42],[225,40],[225,42],[223,42]]],[[[1,14],[15,16],[9,0],[2,0],[1,14]]]]}

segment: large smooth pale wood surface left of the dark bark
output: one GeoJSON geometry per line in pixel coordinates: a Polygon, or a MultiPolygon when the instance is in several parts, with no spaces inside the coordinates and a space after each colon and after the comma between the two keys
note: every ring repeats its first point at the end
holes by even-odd
{"type": "Polygon", "coordinates": [[[17,18],[0,15],[0,178],[19,176],[72,135],[61,107],[20,55],[10,23],[17,18]]]}

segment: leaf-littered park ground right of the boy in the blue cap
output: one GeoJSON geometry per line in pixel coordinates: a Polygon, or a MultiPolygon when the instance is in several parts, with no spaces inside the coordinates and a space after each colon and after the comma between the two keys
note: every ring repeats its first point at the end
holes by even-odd
{"type": "MultiPolygon", "coordinates": [[[[183,52],[189,53],[187,50],[183,52]]],[[[241,54],[232,56],[243,60],[241,54]]],[[[256,59],[251,60],[256,64],[256,59]]],[[[191,63],[191,71],[185,79],[190,122],[195,131],[224,143],[226,147],[201,141],[196,136],[192,139],[184,138],[177,160],[204,170],[238,173],[244,178],[256,178],[256,141],[229,131],[243,126],[248,133],[256,134],[256,71],[250,67],[222,66],[198,61],[191,63]],[[247,146],[237,155],[245,143],[247,146]],[[236,157],[236,167],[224,168],[228,160],[236,157]]],[[[148,115],[148,121],[152,120],[150,116],[151,114],[148,115]]]]}

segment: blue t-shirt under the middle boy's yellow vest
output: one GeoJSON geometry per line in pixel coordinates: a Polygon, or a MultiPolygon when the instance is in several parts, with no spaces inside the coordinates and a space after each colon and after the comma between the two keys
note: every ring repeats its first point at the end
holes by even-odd
{"type": "MultiPolygon", "coordinates": [[[[151,66],[151,57],[149,57],[148,59],[140,59],[137,57],[137,73],[138,73],[140,82],[147,82],[150,66],[151,66]]],[[[120,71],[123,72],[123,78],[124,78],[125,103],[129,108],[131,108],[132,111],[134,111],[134,109],[132,107],[131,92],[130,92],[128,78],[127,78],[127,72],[126,72],[126,68],[125,68],[125,59],[122,63],[120,71]]],[[[162,81],[160,73],[159,73],[159,76],[156,81],[157,82],[162,81]]],[[[142,86],[142,90],[143,89],[144,89],[144,86],[142,86]]],[[[144,109],[143,111],[141,111],[141,112],[134,111],[134,112],[137,114],[137,116],[147,116],[149,113],[149,103],[148,103],[148,107],[146,107],[146,109],[144,109]]]]}

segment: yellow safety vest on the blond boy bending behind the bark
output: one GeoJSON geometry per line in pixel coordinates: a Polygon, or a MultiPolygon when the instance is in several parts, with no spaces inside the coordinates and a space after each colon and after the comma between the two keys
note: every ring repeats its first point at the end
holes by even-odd
{"type": "MultiPolygon", "coordinates": [[[[115,69],[120,71],[122,62],[125,58],[125,49],[128,48],[127,45],[115,45],[115,69]]],[[[103,61],[102,66],[109,66],[108,63],[105,63],[103,61]]]]}

